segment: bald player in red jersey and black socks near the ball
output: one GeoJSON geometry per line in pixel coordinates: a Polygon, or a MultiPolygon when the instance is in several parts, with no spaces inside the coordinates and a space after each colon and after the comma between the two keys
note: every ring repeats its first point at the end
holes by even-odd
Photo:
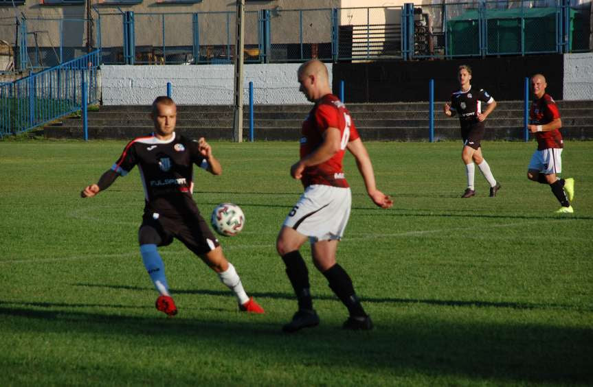
{"type": "Polygon", "coordinates": [[[284,220],[276,241],[298,299],[298,312],[282,330],[291,333],[320,322],[313,309],[309,272],[299,252],[307,239],[315,268],[348,308],[350,316],[344,329],[372,329],[372,320],[355,294],[352,280],[336,263],[337,244],[348,223],[352,201],[342,168],[346,149],[356,159],[370,199],[383,209],[393,202],[375,185],[370,157],[346,106],[331,93],[325,65],[319,60],[304,63],[298,69],[298,82],[300,91],[315,106],[302,124],[300,160],[290,171],[293,178],[301,180],[304,193],[284,220]]]}

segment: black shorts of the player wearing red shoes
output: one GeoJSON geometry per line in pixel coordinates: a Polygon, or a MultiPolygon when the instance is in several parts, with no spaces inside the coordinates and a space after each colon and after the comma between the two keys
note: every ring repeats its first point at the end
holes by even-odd
{"type": "Polygon", "coordinates": [[[219,239],[210,231],[208,223],[199,213],[183,216],[144,213],[138,230],[140,245],[168,246],[173,238],[179,239],[196,255],[203,255],[220,246],[219,239]]]}

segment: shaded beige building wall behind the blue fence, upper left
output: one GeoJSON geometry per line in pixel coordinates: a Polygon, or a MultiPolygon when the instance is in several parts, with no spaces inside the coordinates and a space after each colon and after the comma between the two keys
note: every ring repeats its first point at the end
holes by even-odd
{"type": "MultiPolygon", "coordinates": [[[[144,0],[135,5],[109,4],[98,0],[90,0],[91,5],[99,10],[102,16],[102,43],[104,47],[113,47],[122,45],[122,11],[133,11],[136,14],[136,44],[137,45],[159,45],[162,44],[162,27],[160,16],[150,16],[150,14],[168,13],[166,16],[166,35],[170,39],[166,45],[191,45],[192,44],[192,13],[193,12],[234,12],[236,5],[234,1],[221,0],[203,0],[200,3],[172,4],[158,3],[157,0],[144,0]],[[177,14],[177,15],[174,15],[177,14]],[[186,14],[186,15],[181,15],[186,14]]],[[[298,21],[296,12],[282,12],[284,10],[300,10],[308,8],[338,8],[340,0],[270,0],[253,1],[245,5],[247,12],[245,19],[245,42],[247,44],[257,44],[257,14],[250,12],[262,9],[273,10],[272,23],[274,25],[273,33],[287,38],[295,36],[294,22],[298,21]],[[276,19],[276,23],[274,23],[276,19]],[[284,19],[292,19],[287,23],[284,19]]],[[[42,47],[58,47],[60,42],[60,32],[58,22],[36,23],[34,19],[85,19],[87,11],[84,4],[80,5],[41,5],[40,1],[27,0],[23,5],[0,7],[0,39],[14,43],[14,27],[8,25],[14,20],[14,15],[20,15],[21,12],[31,19],[33,29],[38,31],[37,44],[42,47]]],[[[97,13],[91,12],[93,19],[97,18],[97,13]]],[[[201,32],[203,32],[203,41],[201,44],[225,44],[227,43],[227,30],[225,28],[226,15],[202,15],[201,32]],[[208,32],[207,34],[205,32],[208,32]]],[[[320,25],[327,25],[328,12],[308,12],[306,14],[309,27],[305,28],[305,34],[313,34],[313,41],[319,40],[316,31],[325,32],[326,29],[320,29],[320,25]]],[[[234,25],[232,21],[231,25],[234,25]]],[[[31,30],[31,29],[30,29],[31,30]]],[[[328,34],[326,34],[328,35],[328,34]]],[[[233,36],[233,30],[231,30],[233,36]]],[[[86,28],[80,23],[71,23],[68,27],[68,33],[65,42],[72,46],[82,47],[86,45],[86,28]]],[[[290,43],[290,42],[287,42],[290,43]]]]}

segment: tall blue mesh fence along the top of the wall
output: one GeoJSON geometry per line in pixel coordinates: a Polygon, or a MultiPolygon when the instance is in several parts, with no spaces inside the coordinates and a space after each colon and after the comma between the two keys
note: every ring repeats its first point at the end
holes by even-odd
{"type": "MultiPolygon", "coordinates": [[[[412,60],[590,51],[590,8],[573,3],[468,1],[250,11],[245,13],[245,62],[302,62],[311,58],[333,62],[412,60]]],[[[98,19],[98,42],[107,64],[233,61],[234,12],[127,11],[99,14],[98,19]]]]}

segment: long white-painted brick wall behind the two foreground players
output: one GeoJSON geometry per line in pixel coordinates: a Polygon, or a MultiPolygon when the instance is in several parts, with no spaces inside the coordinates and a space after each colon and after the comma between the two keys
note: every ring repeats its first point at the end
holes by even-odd
{"type": "MultiPolygon", "coordinates": [[[[249,104],[249,82],[254,82],[255,104],[309,104],[298,91],[300,64],[245,65],[243,104],[249,104]]],[[[326,64],[328,73],[332,65],[326,64]]],[[[232,105],[233,65],[101,66],[104,105],[150,105],[172,95],[180,105],[232,105]]],[[[337,93],[337,91],[336,91],[337,93]]]]}

